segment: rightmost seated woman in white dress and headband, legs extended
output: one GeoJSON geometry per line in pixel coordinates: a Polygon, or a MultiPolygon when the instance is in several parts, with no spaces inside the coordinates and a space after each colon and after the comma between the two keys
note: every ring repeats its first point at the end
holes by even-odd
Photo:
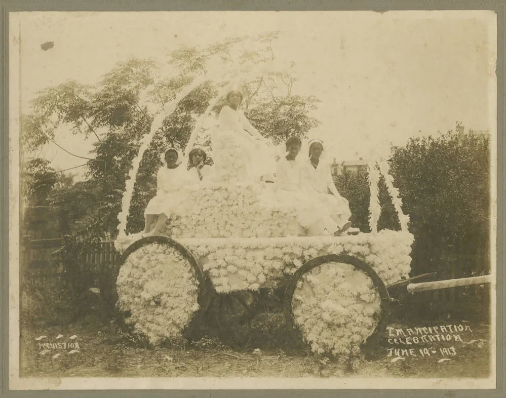
{"type": "MultiPolygon", "coordinates": [[[[349,211],[348,201],[342,197],[332,180],[330,167],[320,161],[323,152],[322,140],[309,141],[309,157],[305,164],[305,178],[308,184],[317,192],[318,201],[329,209],[329,214],[339,226],[339,234],[346,232],[352,223],[349,217],[352,213],[349,211]]],[[[355,228],[353,230],[355,232],[355,228]]]]}

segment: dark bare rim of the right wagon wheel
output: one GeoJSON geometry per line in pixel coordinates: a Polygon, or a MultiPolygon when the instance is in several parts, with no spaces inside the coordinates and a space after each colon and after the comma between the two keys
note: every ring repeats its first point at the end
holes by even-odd
{"type": "Polygon", "coordinates": [[[365,343],[361,344],[363,349],[373,348],[381,339],[383,332],[386,330],[386,327],[388,325],[388,320],[390,318],[390,295],[388,294],[388,290],[386,289],[383,280],[369,264],[358,259],[357,257],[348,256],[346,254],[328,254],[325,256],[315,257],[305,262],[299,269],[295,271],[286,287],[283,300],[283,314],[288,325],[291,326],[293,330],[297,331],[300,336],[302,336],[300,328],[295,322],[292,311],[293,294],[297,287],[297,283],[301,280],[302,276],[305,273],[326,263],[343,263],[353,265],[355,269],[365,272],[366,275],[371,278],[373,285],[378,289],[379,297],[381,299],[380,319],[373,333],[366,339],[365,343]]]}

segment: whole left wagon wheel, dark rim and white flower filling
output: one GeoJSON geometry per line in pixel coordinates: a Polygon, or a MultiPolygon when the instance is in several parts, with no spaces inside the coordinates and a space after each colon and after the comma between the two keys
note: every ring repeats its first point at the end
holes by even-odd
{"type": "Polygon", "coordinates": [[[118,306],[151,344],[179,340],[207,310],[213,289],[193,255],[166,236],[135,242],[119,261],[118,306]]]}

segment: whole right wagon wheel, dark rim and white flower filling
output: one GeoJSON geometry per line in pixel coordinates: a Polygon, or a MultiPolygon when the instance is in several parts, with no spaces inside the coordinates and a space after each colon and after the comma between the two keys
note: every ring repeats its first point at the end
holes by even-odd
{"type": "Polygon", "coordinates": [[[314,352],[349,359],[381,338],[389,303],[383,281],[367,263],[330,254],[294,273],[283,311],[314,352]]]}

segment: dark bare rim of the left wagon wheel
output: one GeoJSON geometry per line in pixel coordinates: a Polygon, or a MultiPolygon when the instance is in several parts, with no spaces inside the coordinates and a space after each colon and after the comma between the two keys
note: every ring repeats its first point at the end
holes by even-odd
{"type": "Polygon", "coordinates": [[[173,240],[168,236],[162,235],[151,235],[146,236],[138,241],[135,241],[131,244],[125,252],[121,255],[120,259],[116,263],[113,275],[114,282],[114,302],[118,301],[118,293],[116,292],[116,280],[118,279],[119,271],[121,266],[125,263],[128,256],[140,249],[143,246],[147,246],[153,243],[166,244],[171,248],[176,249],[179,253],[190,263],[191,268],[195,272],[195,276],[197,277],[197,281],[199,282],[198,290],[197,290],[197,302],[199,303],[199,310],[193,313],[192,320],[184,328],[184,333],[187,335],[191,333],[193,328],[197,326],[202,320],[203,315],[209,308],[209,304],[215,295],[214,287],[210,281],[210,278],[204,273],[204,271],[200,268],[197,259],[193,256],[191,251],[187,249],[185,246],[181,245],[179,242],[173,240]]]}

